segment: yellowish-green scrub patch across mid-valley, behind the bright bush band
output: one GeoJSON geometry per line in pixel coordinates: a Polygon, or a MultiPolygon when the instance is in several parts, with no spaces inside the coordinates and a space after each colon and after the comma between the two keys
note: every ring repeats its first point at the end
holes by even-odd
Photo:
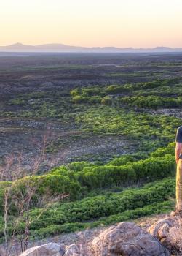
{"type": "MultiPolygon", "coordinates": [[[[9,105],[16,106],[15,111],[0,113],[0,116],[60,121],[63,127],[82,132],[79,138],[86,133],[88,136],[93,133],[123,135],[128,144],[135,143],[135,152],[143,154],[174,141],[175,129],[181,125],[181,121],[173,116],[152,115],[143,110],[136,112],[135,107],[145,110],[179,108],[182,98],[175,96],[181,95],[180,89],[181,80],[173,78],[80,87],[71,92],[66,89],[51,93],[36,91],[11,99],[9,105]],[[164,87],[165,91],[162,91],[164,87]],[[170,90],[169,95],[166,88],[170,90]],[[153,95],[157,93],[159,95],[153,95]]],[[[72,136],[71,141],[75,138],[72,136]]],[[[65,142],[58,138],[56,143],[47,148],[47,153],[54,154],[63,146],[65,142]]],[[[89,157],[81,159],[87,160],[89,157]]]]}

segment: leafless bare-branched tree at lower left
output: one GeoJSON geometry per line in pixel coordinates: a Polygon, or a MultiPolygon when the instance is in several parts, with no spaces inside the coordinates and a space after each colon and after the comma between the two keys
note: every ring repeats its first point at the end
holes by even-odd
{"type": "Polygon", "coordinates": [[[31,217],[30,211],[33,207],[33,197],[35,197],[41,182],[39,179],[35,181],[34,177],[37,175],[41,163],[44,162],[46,148],[50,140],[52,140],[52,135],[49,130],[44,133],[41,141],[33,138],[33,142],[39,148],[39,155],[33,161],[31,173],[27,173],[20,167],[22,154],[17,157],[13,155],[6,157],[4,166],[0,169],[1,181],[7,181],[7,184],[4,185],[5,256],[10,254],[12,246],[17,241],[20,242],[21,252],[25,251],[28,248],[31,224],[39,219],[41,214],[53,203],[68,197],[66,194],[52,196],[49,189],[47,189],[44,195],[39,196],[36,200],[36,206],[41,207],[39,215],[31,217]],[[14,165],[15,162],[17,165],[14,165]],[[20,176],[23,178],[18,180],[17,177],[20,176]],[[22,184],[20,184],[20,181],[22,181],[22,184]],[[21,187],[21,185],[23,186],[21,187]],[[12,214],[12,208],[15,208],[14,214],[12,214]],[[23,230],[20,230],[20,223],[24,224],[23,230]]]}

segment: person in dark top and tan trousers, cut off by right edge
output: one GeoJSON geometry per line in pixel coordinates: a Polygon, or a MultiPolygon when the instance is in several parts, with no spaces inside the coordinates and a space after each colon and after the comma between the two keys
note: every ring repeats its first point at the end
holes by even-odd
{"type": "Polygon", "coordinates": [[[175,211],[171,215],[180,215],[182,217],[182,126],[177,129],[175,143],[175,162],[177,164],[175,187],[176,206],[175,211]]]}

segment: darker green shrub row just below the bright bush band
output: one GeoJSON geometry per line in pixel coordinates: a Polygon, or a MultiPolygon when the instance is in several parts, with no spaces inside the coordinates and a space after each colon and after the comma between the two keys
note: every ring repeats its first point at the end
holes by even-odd
{"type": "MultiPolygon", "coordinates": [[[[123,192],[88,197],[73,203],[57,203],[44,211],[40,219],[33,222],[31,229],[108,217],[152,203],[162,203],[169,197],[175,197],[175,180],[172,178],[148,184],[141,189],[125,189],[123,192]]],[[[32,210],[31,217],[35,219],[40,211],[38,208],[32,210]]]]}

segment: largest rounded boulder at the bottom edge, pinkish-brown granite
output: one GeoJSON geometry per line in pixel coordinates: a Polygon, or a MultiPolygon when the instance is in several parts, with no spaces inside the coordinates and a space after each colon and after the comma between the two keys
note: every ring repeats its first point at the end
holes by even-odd
{"type": "Polygon", "coordinates": [[[121,222],[92,241],[95,256],[170,256],[157,238],[132,222],[121,222]]]}

